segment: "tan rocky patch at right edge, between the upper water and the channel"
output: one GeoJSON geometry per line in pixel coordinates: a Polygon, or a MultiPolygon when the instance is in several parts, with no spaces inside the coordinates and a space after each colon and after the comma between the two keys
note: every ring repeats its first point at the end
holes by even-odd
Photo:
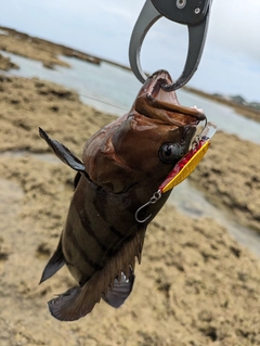
{"type": "Polygon", "coordinates": [[[191,176],[219,208],[260,234],[260,145],[219,131],[191,176]]]}

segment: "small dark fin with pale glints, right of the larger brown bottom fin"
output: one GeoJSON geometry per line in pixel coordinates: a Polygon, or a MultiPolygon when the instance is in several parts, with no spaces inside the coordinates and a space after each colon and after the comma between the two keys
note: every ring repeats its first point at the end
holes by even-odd
{"type": "Polygon", "coordinates": [[[119,308],[132,292],[133,282],[133,272],[130,273],[129,279],[127,279],[122,272],[121,280],[118,281],[115,279],[113,289],[108,290],[107,293],[102,296],[102,298],[114,308],[119,308]]]}

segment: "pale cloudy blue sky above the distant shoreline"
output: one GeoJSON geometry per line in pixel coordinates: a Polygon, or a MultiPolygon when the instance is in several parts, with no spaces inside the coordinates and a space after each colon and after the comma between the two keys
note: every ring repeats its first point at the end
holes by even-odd
{"type": "MultiPolygon", "coordinates": [[[[129,41],[144,2],[9,0],[1,3],[0,25],[129,66],[129,41]]],[[[213,0],[204,54],[188,86],[260,102],[259,18],[259,0],[213,0]]],[[[146,35],[142,67],[168,69],[177,79],[186,49],[186,26],[161,18],[146,35]]]]}

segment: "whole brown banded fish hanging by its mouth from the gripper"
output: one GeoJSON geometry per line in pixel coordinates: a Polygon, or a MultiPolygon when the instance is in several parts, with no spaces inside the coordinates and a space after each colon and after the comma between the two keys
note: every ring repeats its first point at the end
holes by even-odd
{"type": "Polygon", "coordinates": [[[171,191],[156,204],[147,201],[206,119],[202,110],[182,106],[174,91],[165,92],[161,85],[168,84],[167,71],[151,75],[130,112],[87,140],[82,159],[39,128],[56,156],[77,171],[65,227],[40,280],[64,265],[76,280],[76,286],[48,302],[61,321],[84,317],[101,298],[118,308],[133,289],[146,228],[171,191]]]}

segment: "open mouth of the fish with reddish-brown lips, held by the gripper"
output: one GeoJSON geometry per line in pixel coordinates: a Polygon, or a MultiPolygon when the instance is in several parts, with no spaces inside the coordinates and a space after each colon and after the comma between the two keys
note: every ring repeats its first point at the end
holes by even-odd
{"type": "Polygon", "coordinates": [[[150,118],[156,118],[169,125],[197,126],[199,121],[206,120],[203,110],[182,106],[174,91],[166,92],[162,85],[172,84],[170,74],[160,69],[151,75],[144,82],[134,108],[150,118]]]}

